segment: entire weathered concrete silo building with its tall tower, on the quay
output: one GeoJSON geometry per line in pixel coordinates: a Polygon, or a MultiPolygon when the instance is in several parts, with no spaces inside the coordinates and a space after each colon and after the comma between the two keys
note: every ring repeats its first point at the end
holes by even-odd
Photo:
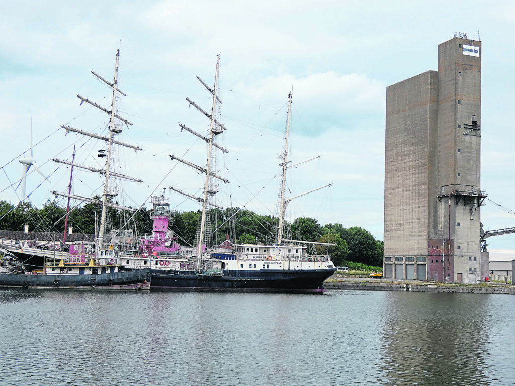
{"type": "Polygon", "coordinates": [[[406,264],[425,264],[424,256],[429,279],[475,283],[488,274],[479,252],[481,56],[481,42],[453,38],[438,46],[438,72],[387,87],[384,271],[391,278],[407,278],[406,264]],[[436,254],[442,259],[431,263],[436,254]]]}

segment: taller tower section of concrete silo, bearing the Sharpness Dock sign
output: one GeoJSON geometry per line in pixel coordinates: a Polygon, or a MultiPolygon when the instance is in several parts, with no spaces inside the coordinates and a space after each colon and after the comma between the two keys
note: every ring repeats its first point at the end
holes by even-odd
{"type": "MultiPolygon", "coordinates": [[[[438,46],[438,146],[436,178],[432,181],[451,194],[455,190],[473,194],[480,189],[481,42],[454,38],[438,46]],[[463,46],[479,49],[479,56],[464,55],[463,46]]],[[[430,202],[430,236],[451,240],[452,269],[445,271],[450,282],[484,280],[479,252],[480,208],[477,197],[454,195],[430,202]]]]}

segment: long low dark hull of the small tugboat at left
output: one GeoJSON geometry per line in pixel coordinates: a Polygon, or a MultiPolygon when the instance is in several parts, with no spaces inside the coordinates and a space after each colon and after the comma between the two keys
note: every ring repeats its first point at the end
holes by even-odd
{"type": "Polygon", "coordinates": [[[0,288],[124,290],[150,289],[150,269],[96,275],[0,274],[0,288]]]}

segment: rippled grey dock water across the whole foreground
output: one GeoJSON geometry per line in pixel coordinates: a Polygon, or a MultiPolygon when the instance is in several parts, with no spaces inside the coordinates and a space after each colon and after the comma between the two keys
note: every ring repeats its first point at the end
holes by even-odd
{"type": "Polygon", "coordinates": [[[1,385],[513,385],[515,296],[0,290],[1,385]]]}

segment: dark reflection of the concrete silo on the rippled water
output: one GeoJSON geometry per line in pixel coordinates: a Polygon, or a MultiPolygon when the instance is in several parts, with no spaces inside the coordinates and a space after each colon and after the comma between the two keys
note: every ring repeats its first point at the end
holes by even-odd
{"type": "Polygon", "coordinates": [[[484,310],[491,296],[388,292],[387,379],[397,385],[490,384],[484,310]]]}

